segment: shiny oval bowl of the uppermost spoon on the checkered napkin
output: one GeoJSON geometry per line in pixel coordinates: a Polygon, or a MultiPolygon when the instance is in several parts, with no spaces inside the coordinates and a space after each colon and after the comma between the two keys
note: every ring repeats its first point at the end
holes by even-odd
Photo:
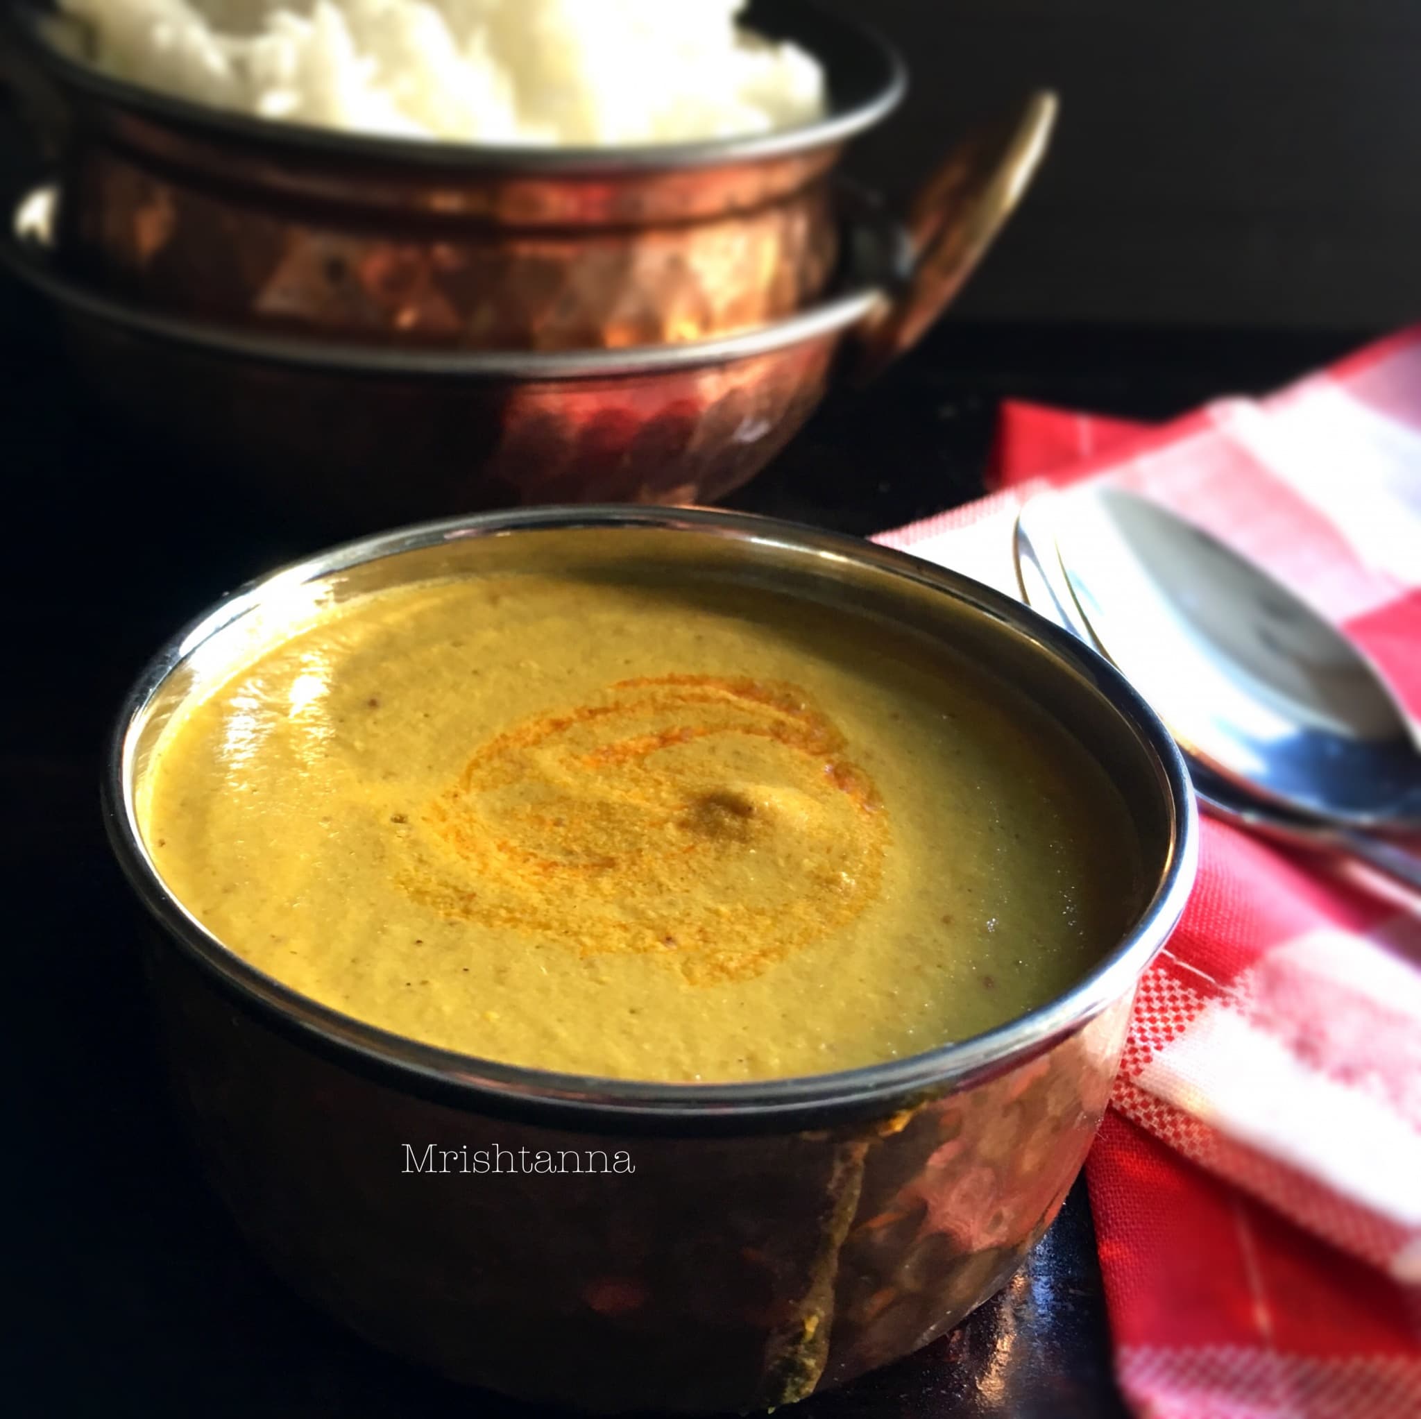
{"type": "Polygon", "coordinates": [[[1421,754],[1405,716],[1300,597],[1133,493],[1080,489],[1054,513],[1086,625],[1196,760],[1292,812],[1421,825],[1421,754]]]}

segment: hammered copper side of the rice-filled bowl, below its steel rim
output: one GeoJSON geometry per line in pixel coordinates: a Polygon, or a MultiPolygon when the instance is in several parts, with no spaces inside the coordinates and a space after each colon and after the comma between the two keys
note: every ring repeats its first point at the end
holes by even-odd
{"type": "Polygon", "coordinates": [[[818,152],[576,176],[257,165],[125,118],[65,175],[75,270],[158,310],[469,349],[705,339],[793,314],[838,254],[818,152]]]}

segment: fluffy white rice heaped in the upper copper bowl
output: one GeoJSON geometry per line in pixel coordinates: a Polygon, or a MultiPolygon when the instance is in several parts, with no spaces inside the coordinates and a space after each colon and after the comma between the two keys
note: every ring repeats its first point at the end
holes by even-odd
{"type": "Polygon", "coordinates": [[[791,128],[820,64],[743,0],[61,0],[119,78],[260,118],[568,146],[791,128]]]}

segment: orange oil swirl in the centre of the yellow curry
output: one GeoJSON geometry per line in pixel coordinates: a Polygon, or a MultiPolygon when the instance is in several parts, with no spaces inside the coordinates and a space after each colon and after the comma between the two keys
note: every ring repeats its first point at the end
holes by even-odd
{"type": "Polygon", "coordinates": [[[469,760],[405,889],[584,956],[648,952],[693,984],[756,976],[874,899],[884,805],[787,683],[642,678],[469,760]]]}

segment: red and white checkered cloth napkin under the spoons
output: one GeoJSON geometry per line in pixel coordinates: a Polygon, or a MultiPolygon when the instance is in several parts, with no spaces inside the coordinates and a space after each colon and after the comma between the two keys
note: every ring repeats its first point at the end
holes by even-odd
{"type": "MultiPolygon", "coordinates": [[[[1110,477],[1290,584],[1421,720],[1421,327],[1141,432],[1003,411],[999,491],[880,540],[1013,595],[1025,497],[1110,477]]],[[[1151,1419],[1421,1416],[1421,916],[1205,820],[1087,1165],[1151,1419]]]]}

